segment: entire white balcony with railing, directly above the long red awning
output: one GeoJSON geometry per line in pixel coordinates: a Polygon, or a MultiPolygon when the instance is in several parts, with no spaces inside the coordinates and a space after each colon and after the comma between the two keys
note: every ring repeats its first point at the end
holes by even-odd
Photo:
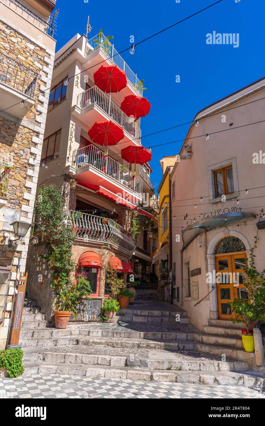
{"type": "Polygon", "coordinates": [[[94,145],[74,150],[72,166],[76,167],[76,179],[84,183],[101,185],[112,193],[122,193],[132,204],[143,199],[143,181],[118,161],[94,145]]]}

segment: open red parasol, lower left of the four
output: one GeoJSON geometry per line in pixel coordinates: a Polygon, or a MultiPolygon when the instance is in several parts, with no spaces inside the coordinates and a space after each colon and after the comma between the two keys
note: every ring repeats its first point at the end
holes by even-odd
{"type": "Polygon", "coordinates": [[[121,126],[112,121],[96,121],[88,130],[88,136],[95,144],[108,147],[121,141],[124,138],[124,132],[121,126]]]}

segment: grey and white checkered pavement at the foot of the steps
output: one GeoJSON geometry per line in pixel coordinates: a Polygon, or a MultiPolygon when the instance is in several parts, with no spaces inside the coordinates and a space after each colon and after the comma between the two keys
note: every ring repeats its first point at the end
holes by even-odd
{"type": "Polygon", "coordinates": [[[33,374],[0,379],[1,398],[265,398],[240,386],[103,379],[56,374],[33,374]]]}

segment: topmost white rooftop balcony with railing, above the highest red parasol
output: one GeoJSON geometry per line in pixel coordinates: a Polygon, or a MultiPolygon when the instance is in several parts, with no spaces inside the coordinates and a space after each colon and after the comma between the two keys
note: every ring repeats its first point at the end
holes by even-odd
{"type": "MultiPolygon", "coordinates": [[[[93,66],[93,73],[101,66],[101,62],[97,54],[101,55],[101,58],[107,60],[106,63],[115,64],[120,69],[126,72],[127,75],[127,88],[122,89],[124,96],[127,95],[143,95],[143,83],[139,80],[137,75],[130,69],[125,60],[118,54],[117,50],[114,49],[114,45],[107,40],[104,34],[99,33],[93,38],[87,40],[86,51],[87,57],[90,59],[90,66],[93,66]],[[97,65],[99,64],[99,65],[97,65]],[[95,65],[95,66],[94,66],[95,65]]],[[[102,59],[101,59],[102,60],[102,59]]]]}

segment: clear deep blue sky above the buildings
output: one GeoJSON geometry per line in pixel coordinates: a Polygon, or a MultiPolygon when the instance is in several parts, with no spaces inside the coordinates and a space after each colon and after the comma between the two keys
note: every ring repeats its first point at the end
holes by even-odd
{"type": "MultiPolygon", "coordinates": [[[[57,45],[60,49],[76,33],[85,33],[90,15],[91,37],[101,28],[114,36],[118,51],[209,6],[215,0],[57,0],[57,45]]],[[[142,135],[191,121],[203,107],[262,78],[265,74],[264,0],[223,0],[201,14],[180,23],[122,54],[144,79],[144,92],[152,105],[141,120],[142,135]],[[207,45],[206,34],[239,33],[239,47],[207,45]],[[180,83],[176,83],[180,75],[180,83]]],[[[144,146],[183,139],[189,126],[142,139],[144,146]]],[[[153,148],[152,181],[158,188],[162,177],[159,160],[178,154],[181,143],[153,148]]]]}

